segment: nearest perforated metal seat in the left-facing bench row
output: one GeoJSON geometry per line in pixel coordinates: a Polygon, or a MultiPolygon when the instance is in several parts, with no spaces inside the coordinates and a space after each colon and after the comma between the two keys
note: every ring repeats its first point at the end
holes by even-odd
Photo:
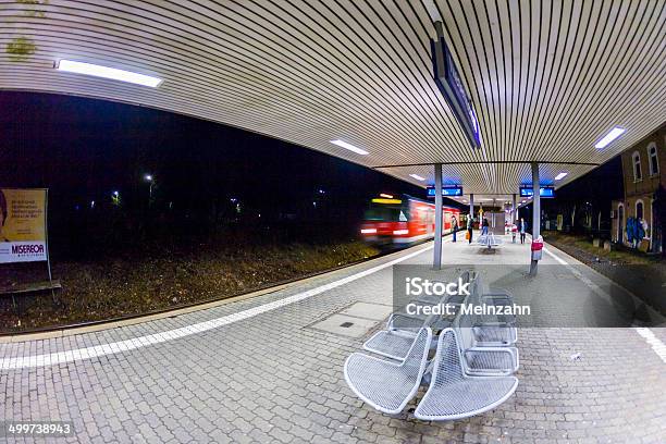
{"type": "Polygon", "coordinates": [[[355,353],[345,361],[345,381],[368,405],[385,414],[399,414],[419,390],[431,342],[432,331],[421,329],[404,361],[355,353]]]}

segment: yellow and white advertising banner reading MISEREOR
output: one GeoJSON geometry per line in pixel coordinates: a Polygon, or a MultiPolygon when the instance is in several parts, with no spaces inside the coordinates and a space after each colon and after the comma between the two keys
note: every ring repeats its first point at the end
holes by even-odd
{"type": "Polygon", "coordinates": [[[0,188],[0,263],[48,260],[47,190],[0,188]]]}

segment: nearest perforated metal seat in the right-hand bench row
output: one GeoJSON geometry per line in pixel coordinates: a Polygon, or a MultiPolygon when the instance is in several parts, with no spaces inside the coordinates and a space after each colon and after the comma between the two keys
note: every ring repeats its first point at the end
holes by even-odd
{"type": "Polygon", "coordinates": [[[443,331],[437,341],[433,374],[415,417],[425,421],[467,418],[493,409],[518,386],[515,377],[468,377],[461,367],[456,333],[443,331]]]}

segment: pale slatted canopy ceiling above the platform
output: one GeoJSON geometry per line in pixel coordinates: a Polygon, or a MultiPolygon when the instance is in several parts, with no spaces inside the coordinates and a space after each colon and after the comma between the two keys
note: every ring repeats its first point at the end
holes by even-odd
{"type": "MultiPolygon", "coordinates": [[[[435,30],[419,0],[0,1],[2,48],[18,37],[36,46],[23,61],[2,52],[0,88],[153,107],[367,166],[469,162],[445,165],[444,182],[478,194],[531,182],[526,163],[484,162],[603,163],[666,121],[665,0],[435,5],[479,116],[479,150],[432,79],[435,30]],[[67,74],[53,69],[60,59],[164,82],[67,74]],[[627,133],[595,149],[615,125],[627,133]]],[[[544,164],[541,175],[569,172],[559,186],[592,168],[544,164]]],[[[380,171],[433,182],[431,166],[380,171]]]]}

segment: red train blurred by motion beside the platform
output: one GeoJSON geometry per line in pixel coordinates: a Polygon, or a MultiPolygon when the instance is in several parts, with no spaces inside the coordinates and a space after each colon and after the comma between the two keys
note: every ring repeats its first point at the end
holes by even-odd
{"type": "MultiPolygon", "coordinates": [[[[434,237],[434,203],[408,195],[392,196],[381,194],[372,199],[361,225],[361,235],[368,243],[393,244],[396,246],[414,244],[434,237]]],[[[460,210],[443,207],[443,232],[453,231],[455,217],[459,230],[465,230],[460,210]]]]}

